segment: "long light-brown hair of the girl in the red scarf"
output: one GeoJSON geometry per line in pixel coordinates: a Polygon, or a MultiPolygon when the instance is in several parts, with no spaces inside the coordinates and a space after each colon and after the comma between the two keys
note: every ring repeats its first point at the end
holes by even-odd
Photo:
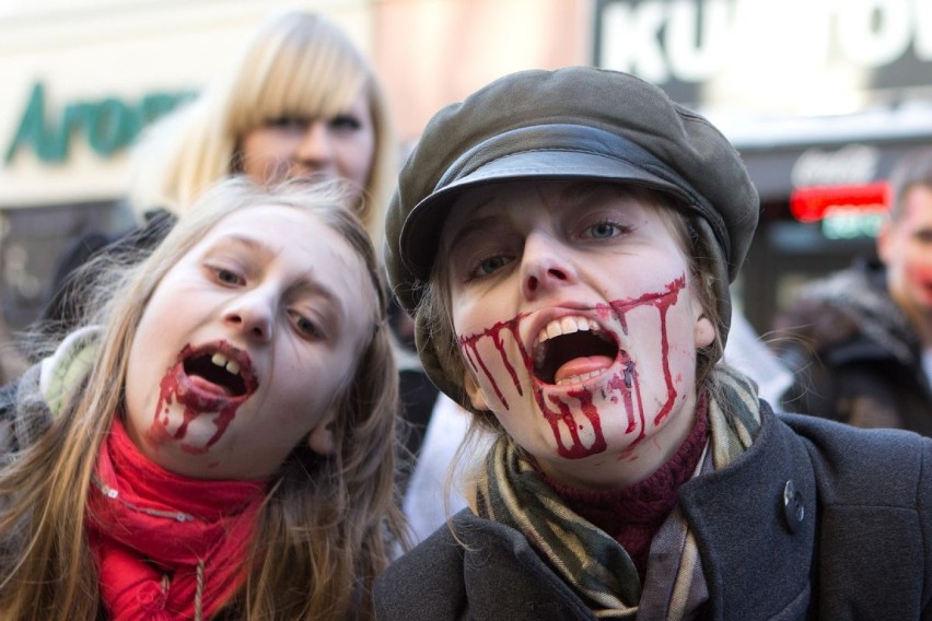
{"type": "MultiPolygon", "coordinates": [[[[232,178],[199,199],[156,250],[95,283],[89,308],[103,326],[97,355],[70,401],[32,446],[0,471],[0,617],[94,619],[98,583],[84,507],[102,440],[121,408],[127,356],[140,318],[174,259],[238,209],[286,206],[307,210],[340,233],[369,270],[378,317],[342,395],[334,421],[338,449],[314,454],[301,438],[269,484],[251,551],[246,584],[221,611],[235,619],[374,617],[371,586],[405,535],[395,503],[397,371],[385,317],[386,288],[372,243],[345,207],[346,194],[291,181],[258,188],[232,178]]],[[[314,243],[308,239],[308,243],[314,243]]],[[[112,259],[104,257],[101,260],[112,259]]],[[[36,396],[25,396],[35,399],[36,396]]]]}

